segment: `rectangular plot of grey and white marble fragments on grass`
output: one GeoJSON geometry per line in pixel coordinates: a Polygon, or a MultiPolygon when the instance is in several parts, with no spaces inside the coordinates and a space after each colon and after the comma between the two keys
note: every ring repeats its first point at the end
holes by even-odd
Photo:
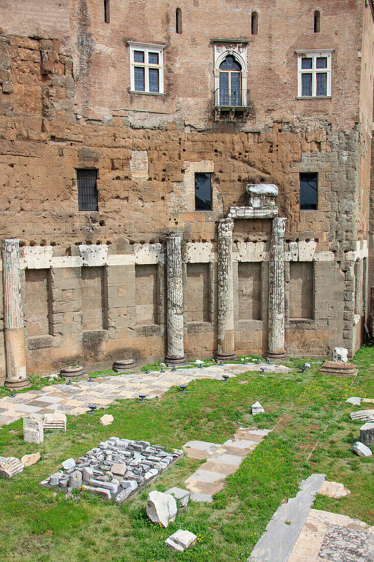
{"type": "Polygon", "coordinates": [[[178,449],[166,451],[147,441],[111,437],[61,469],[39,486],[67,492],[84,490],[117,503],[128,500],[169,466],[184,456],[178,449]]]}

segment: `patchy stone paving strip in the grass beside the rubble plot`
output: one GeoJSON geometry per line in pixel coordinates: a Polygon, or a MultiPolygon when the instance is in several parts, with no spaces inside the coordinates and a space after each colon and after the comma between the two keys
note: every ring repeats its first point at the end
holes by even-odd
{"type": "Polygon", "coordinates": [[[238,470],[241,461],[261,443],[270,429],[239,428],[234,439],[223,445],[206,441],[189,441],[183,446],[190,459],[207,459],[185,481],[191,500],[212,501],[213,494],[222,490],[227,475],[238,470]]]}

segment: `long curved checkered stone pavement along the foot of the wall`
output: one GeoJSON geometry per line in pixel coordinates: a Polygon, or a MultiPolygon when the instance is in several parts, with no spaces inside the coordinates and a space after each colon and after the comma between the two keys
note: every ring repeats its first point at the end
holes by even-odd
{"type": "MultiPolygon", "coordinates": [[[[212,365],[204,368],[166,370],[165,373],[150,371],[149,373],[122,373],[117,376],[95,378],[93,382],[81,379],[72,384],[52,384],[43,389],[7,396],[0,400],[0,425],[9,424],[30,414],[34,418],[42,418],[55,410],[65,414],[84,414],[89,404],[106,408],[116,399],[137,398],[143,392],[147,398],[162,396],[171,386],[188,384],[195,379],[222,380],[222,374],[235,377],[235,373],[259,371],[265,367],[268,372],[288,372],[290,369],[282,365],[225,364],[212,365]]],[[[225,384],[222,382],[222,384],[225,384]]]]}

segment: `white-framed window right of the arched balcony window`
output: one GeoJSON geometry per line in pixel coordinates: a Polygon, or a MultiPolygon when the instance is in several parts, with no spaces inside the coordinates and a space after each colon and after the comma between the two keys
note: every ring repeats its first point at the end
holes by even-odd
{"type": "Polygon", "coordinates": [[[324,51],[297,51],[298,97],[331,96],[331,53],[324,51]]]}

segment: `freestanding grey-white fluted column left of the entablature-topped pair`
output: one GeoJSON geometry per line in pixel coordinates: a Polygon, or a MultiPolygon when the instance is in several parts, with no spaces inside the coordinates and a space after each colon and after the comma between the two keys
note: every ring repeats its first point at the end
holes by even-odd
{"type": "Polygon", "coordinates": [[[183,279],[181,237],[166,238],[167,365],[186,365],[183,336],[183,279]]]}

